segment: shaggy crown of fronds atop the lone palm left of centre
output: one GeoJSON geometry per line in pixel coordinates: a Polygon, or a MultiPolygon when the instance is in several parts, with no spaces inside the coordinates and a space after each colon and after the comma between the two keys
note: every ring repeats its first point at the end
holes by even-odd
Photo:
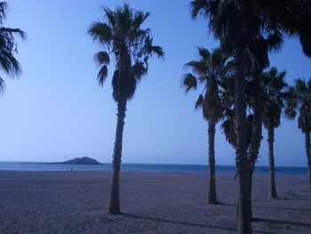
{"type": "Polygon", "coordinates": [[[153,45],[150,29],[140,26],[149,13],[133,11],[128,4],[116,11],[103,8],[106,22],[93,22],[88,33],[93,40],[104,45],[105,51],[95,54],[94,61],[100,65],[98,80],[103,85],[108,77],[108,65],[113,54],[116,61],[112,85],[115,101],[130,100],[141,77],[148,72],[148,58],[163,57],[163,50],[153,45]]]}

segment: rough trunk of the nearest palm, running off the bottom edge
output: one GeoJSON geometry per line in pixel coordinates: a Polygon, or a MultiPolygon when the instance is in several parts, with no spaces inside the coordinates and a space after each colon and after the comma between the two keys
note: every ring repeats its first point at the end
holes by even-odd
{"type": "Polygon", "coordinates": [[[246,125],[246,52],[238,50],[235,54],[237,72],[235,76],[235,165],[239,180],[239,233],[251,233],[251,218],[248,202],[248,158],[246,125]]]}

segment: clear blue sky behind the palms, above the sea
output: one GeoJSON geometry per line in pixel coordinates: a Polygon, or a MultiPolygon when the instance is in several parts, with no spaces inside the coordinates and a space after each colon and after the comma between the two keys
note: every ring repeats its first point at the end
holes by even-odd
{"type": "MultiPolygon", "coordinates": [[[[110,162],[116,131],[116,103],[111,79],[101,88],[92,56],[100,50],[86,30],[100,20],[100,5],[110,8],[123,1],[9,0],[6,22],[22,28],[28,41],[19,43],[17,55],[23,74],[5,77],[0,97],[0,160],[61,161],[94,157],[110,162]]],[[[131,0],[133,8],[151,12],[145,26],[155,44],[166,52],[163,61],[150,62],[129,103],[124,128],[123,162],[206,164],[207,124],[194,111],[198,93],[187,96],[180,89],[183,64],[195,59],[195,46],[217,46],[204,20],[193,21],[189,1],[131,0]]],[[[296,77],[310,76],[310,60],[299,41],[286,42],[271,56],[271,65],[296,77]]],[[[111,73],[110,73],[111,75],[111,73]]],[[[1,74],[3,76],[3,73],[1,74]]],[[[266,135],[264,131],[264,135],[266,135]]],[[[262,141],[259,165],[267,165],[267,138],[262,141]]],[[[276,165],[306,165],[304,136],[297,122],[284,120],[275,131],[276,165]]],[[[216,162],[234,165],[235,152],[217,130],[216,162]]]]}

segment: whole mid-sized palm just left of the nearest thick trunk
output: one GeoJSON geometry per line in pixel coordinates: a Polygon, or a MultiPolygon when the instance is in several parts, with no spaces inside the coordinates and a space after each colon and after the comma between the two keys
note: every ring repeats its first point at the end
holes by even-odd
{"type": "Polygon", "coordinates": [[[215,125],[223,115],[221,100],[219,98],[219,80],[227,75],[227,55],[221,49],[209,52],[203,47],[198,48],[199,61],[189,61],[186,67],[193,73],[187,73],[182,80],[182,85],[187,93],[196,89],[197,84],[202,84],[203,94],[195,102],[195,109],[203,109],[203,117],[208,121],[209,142],[209,187],[206,201],[217,204],[216,179],[215,179],[215,125]]]}

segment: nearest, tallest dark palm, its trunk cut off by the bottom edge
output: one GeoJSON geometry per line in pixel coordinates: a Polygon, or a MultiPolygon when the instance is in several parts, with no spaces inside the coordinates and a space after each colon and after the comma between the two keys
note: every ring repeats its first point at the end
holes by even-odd
{"type": "Polygon", "coordinates": [[[260,14],[257,15],[253,1],[195,0],[191,3],[191,9],[194,18],[202,13],[209,20],[214,36],[219,38],[221,46],[235,60],[235,166],[239,182],[239,232],[251,233],[245,96],[247,66],[251,60],[249,48],[253,38],[260,36],[260,14]]]}

